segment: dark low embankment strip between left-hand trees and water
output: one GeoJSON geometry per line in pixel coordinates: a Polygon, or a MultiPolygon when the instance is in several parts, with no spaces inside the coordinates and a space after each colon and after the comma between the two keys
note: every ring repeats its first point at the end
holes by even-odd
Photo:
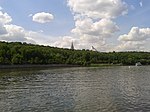
{"type": "Polygon", "coordinates": [[[56,68],[56,67],[79,67],[79,65],[68,65],[68,64],[48,64],[48,65],[0,65],[0,69],[17,69],[17,68],[56,68]]]}

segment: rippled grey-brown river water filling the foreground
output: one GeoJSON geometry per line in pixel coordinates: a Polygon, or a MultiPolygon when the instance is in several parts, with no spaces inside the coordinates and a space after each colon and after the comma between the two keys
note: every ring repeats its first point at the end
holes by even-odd
{"type": "Polygon", "coordinates": [[[0,112],[150,112],[150,66],[1,70],[0,112]]]}

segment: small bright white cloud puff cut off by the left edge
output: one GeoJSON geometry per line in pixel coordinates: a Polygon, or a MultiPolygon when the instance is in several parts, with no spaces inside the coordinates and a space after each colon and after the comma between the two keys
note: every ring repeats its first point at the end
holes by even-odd
{"type": "Polygon", "coordinates": [[[0,11],[0,24],[7,24],[12,21],[12,18],[7,14],[0,11]]]}

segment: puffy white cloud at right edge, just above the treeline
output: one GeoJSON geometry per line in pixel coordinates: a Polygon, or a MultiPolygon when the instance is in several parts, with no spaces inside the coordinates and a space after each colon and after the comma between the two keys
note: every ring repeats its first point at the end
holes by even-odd
{"type": "Polygon", "coordinates": [[[150,39],[150,28],[133,27],[128,34],[119,36],[118,40],[121,44],[116,47],[116,50],[144,50],[148,39],[150,39]]]}

